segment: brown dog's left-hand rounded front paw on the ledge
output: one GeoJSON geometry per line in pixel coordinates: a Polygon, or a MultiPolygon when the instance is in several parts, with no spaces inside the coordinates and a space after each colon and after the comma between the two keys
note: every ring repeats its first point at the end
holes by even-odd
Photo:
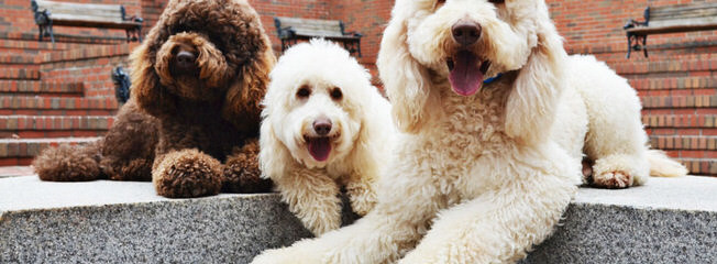
{"type": "Polygon", "coordinates": [[[197,150],[172,152],[152,172],[157,194],[191,198],[219,194],[221,164],[197,150]]]}

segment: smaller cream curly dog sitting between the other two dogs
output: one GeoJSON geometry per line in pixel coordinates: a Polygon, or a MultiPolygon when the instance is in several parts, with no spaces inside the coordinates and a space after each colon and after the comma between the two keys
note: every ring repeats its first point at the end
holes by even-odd
{"type": "Polygon", "coordinates": [[[340,187],[363,216],[396,129],[390,105],[349,52],[312,40],[272,70],[262,112],[260,166],[289,209],[319,235],[341,226],[340,187]]]}

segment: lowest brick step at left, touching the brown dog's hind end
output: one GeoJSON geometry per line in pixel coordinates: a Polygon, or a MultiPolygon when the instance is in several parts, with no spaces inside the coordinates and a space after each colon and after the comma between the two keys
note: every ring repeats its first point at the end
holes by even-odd
{"type": "Polygon", "coordinates": [[[0,166],[29,165],[42,150],[59,144],[87,144],[100,138],[0,139],[0,166]]]}

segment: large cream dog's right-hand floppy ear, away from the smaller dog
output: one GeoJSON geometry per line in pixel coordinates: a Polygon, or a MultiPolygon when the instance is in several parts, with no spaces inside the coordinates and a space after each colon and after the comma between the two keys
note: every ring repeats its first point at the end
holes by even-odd
{"type": "Polygon", "coordinates": [[[567,55],[547,12],[539,14],[537,46],[518,73],[506,103],[506,133],[523,144],[548,139],[558,100],[565,87],[567,55]]]}

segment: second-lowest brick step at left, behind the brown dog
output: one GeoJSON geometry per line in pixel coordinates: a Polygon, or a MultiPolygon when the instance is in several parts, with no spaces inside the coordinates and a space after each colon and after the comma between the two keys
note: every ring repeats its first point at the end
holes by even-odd
{"type": "Polygon", "coordinates": [[[0,139],[100,136],[113,121],[111,116],[0,116],[0,139]]]}

